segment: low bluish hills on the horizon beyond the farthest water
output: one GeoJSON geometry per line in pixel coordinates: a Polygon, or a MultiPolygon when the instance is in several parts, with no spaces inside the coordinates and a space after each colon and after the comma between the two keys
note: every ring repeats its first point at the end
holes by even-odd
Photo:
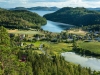
{"type": "Polygon", "coordinates": [[[27,8],[29,10],[44,10],[44,11],[56,11],[58,10],[59,8],[57,7],[31,7],[31,8],[27,8]]]}

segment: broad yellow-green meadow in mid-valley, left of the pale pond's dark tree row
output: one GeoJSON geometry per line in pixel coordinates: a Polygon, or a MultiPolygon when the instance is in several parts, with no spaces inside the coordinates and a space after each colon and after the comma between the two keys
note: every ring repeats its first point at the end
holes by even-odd
{"type": "Polygon", "coordinates": [[[72,44],[66,44],[66,43],[45,43],[48,47],[48,52],[50,54],[61,54],[62,52],[67,52],[72,50],[72,44]]]}

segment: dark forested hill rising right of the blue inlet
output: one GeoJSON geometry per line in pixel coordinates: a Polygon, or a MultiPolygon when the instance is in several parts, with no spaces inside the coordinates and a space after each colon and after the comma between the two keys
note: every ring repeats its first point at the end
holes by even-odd
{"type": "Polygon", "coordinates": [[[64,7],[54,13],[44,15],[44,17],[51,21],[76,26],[100,24],[100,12],[87,10],[82,7],[64,7]]]}

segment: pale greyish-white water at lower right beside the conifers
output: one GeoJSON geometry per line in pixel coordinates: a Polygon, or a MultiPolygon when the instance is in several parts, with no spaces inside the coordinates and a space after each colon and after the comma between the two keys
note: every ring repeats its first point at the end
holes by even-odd
{"type": "Polygon", "coordinates": [[[83,67],[90,67],[92,70],[100,71],[100,59],[82,57],[73,52],[65,52],[61,53],[61,55],[65,57],[66,61],[80,64],[83,67]]]}

